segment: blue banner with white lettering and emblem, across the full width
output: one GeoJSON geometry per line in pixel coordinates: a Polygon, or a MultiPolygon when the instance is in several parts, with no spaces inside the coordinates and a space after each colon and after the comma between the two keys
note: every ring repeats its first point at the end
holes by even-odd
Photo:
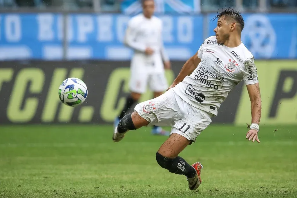
{"type": "MultiPolygon", "coordinates": [[[[216,20],[207,15],[159,15],[165,48],[172,60],[187,60],[208,36],[216,20]],[[208,32],[203,36],[203,32],[208,32]]],[[[0,60],[63,58],[64,16],[53,13],[0,14],[0,60]]],[[[257,59],[297,58],[296,14],[244,14],[244,45],[257,59]]],[[[122,43],[131,16],[70,14],[67,16],[67,59],[129,60],[122,43]]]]}

